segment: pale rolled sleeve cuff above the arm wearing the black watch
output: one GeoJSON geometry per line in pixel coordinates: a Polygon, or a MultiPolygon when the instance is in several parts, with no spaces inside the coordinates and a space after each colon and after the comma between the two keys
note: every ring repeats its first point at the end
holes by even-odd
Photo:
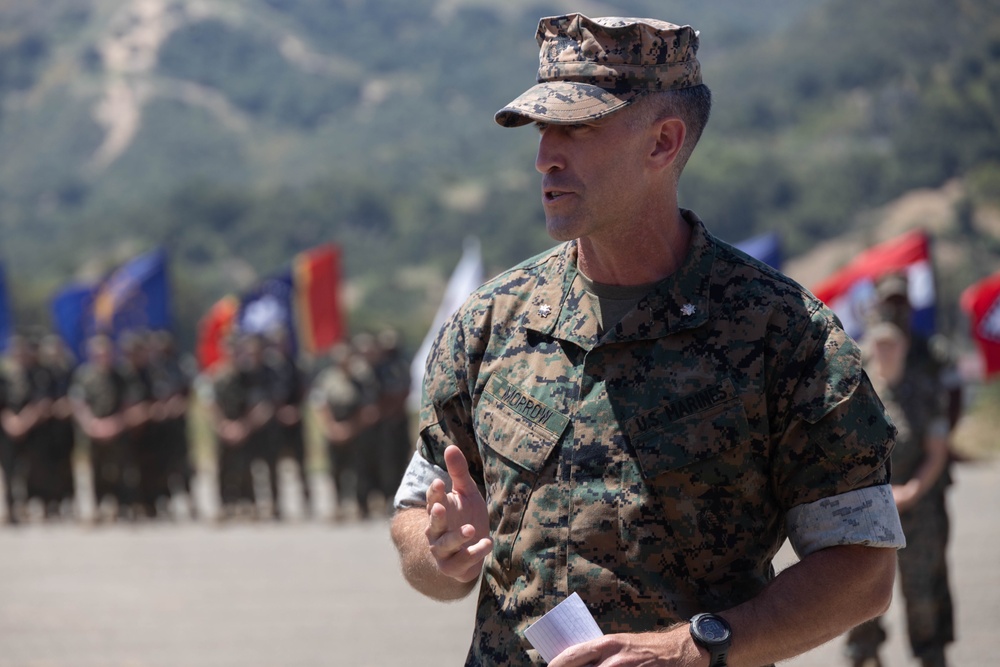
{"type": "Polygon", "coordinates": [[[888,549],[906,546],[888,484],[798,505],[789,510],[785,522],[788,539],[799,558],[845,544],[888,549]]]}

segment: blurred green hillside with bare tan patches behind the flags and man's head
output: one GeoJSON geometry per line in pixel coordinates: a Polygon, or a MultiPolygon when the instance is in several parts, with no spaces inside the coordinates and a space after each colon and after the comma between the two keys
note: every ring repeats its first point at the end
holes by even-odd
{"type": "MultiPolygon", "coordinates": [[[[577,9],[701,30],[716,111],[682,201],[724,238],[805,253],[956,179],[958,218],[997,205],[996,0],[0,0],[18,322],[163,245],[190,343],[209,304],[332,240],[353,325],[415,343],[466,236],[490,270],[550,245],[535,135],[492,115],[534,78],[538,17],[577,9]]],[[[1000,236],[949,229],[983,257],[965,275],[1000,266],[1000,236]]]]}

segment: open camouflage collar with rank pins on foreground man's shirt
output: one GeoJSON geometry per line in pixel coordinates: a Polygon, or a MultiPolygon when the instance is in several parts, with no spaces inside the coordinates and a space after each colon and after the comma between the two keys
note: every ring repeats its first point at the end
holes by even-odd
{"type": "Polygon", "coordinates": [[[614,329],[599,337],[598,323],[581,308],[585,293],[577,275],[576,242],[563,244],[542,265],[522,318],[524,328],[592,349],[598,343],[646,340],[693,329],[708,321],[709,287],[715,263],[714,237],[691,211],[681,209],[691,225],[691,245],[681,266],[657,283],[614,329]]]}

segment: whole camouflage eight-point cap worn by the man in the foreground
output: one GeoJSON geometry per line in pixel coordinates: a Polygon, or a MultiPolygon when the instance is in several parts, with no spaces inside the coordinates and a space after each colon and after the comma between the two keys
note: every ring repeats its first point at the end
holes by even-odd
{"type": "Polygon", "coordinates": [[[701,84],[691,26],[567,14],[539,21],[536,39],[538,84],[496,113],[504,127],[594,120],[643,93],[701,84]]]}

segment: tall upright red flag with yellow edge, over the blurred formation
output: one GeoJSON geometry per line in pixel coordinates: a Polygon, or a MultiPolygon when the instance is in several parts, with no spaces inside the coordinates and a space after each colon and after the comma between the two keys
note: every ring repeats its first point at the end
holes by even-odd
{"type": "Polygon", "coordinates": [[[293,262],[299,343],[321,354],[344,337],[340,309],[340,250],[326,244],[301,252],[293,262]]]}

